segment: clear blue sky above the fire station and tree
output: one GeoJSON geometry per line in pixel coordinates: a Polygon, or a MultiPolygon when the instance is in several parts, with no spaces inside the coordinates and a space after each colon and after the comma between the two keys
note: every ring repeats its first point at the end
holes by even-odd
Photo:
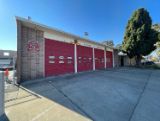
{"type": "Polygon", "coordinates": [[[0,0],[0,49],[17,48],[14,16],[62,29],[101,42],[123,40],[132,13],[144,7],[153,23],[160,23],[160,0],[0,0]]]}

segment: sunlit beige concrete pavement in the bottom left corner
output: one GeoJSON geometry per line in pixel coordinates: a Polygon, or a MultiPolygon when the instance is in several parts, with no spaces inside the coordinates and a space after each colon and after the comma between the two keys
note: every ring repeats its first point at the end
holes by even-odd
{"type": "Polygon", "coordinates": [[[17,99],[6,102],[5,112],[10,121],[90,121],[52,100],[21,88],[17,99]]]}

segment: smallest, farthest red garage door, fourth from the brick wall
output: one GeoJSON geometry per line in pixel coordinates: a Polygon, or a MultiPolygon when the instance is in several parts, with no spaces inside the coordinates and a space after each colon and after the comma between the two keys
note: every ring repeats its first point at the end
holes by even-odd
{"type": "Polygon", "coordinates": [[[113,67],[113,57],[112,52],[106,51],[106,67],[112,68],[113,67]]]}

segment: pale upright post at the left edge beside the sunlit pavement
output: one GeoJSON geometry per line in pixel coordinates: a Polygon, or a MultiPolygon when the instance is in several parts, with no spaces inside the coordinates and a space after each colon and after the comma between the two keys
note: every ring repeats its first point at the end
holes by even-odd
{"type": "Polygon", "coordinates": [[[4,80],[3,74],[0,72],[0,116],[4,114],[4,80]]]}

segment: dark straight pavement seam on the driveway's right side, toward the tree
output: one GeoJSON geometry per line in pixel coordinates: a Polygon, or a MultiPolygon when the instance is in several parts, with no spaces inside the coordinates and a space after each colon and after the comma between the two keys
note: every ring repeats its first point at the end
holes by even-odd
{"type": "Polygon", "coordinates": [[[147,87],[148,83],[149,83],[149,80],[150,80],[150,78],[151,78],[151,75],[152,75],[152,72],[148,75],[148,78],[147,78],[147,80],[146,80],[146,82],[145,82],[145,84],[144,84],[143,90],[142,90],[142,92],[140,93],[140,95],[139,95],[139,97],[138,97],[137,103],[135,104],[135,106],[134,106],[134,108],[133,108],[133,111],[132,111],[132,113],[131,113],[128,121],[131,121],[131,120],[132,120],[132,117],[133,117],[133,115],[134,115],[134,113],[135,113],[135,110],[136,110],[138,104],[140,103],[140,100],[141,100],[141,98],[142,98],[142,96],[143,96],[143,94],[144,94],[144,92],[145,92],[145,90],[146,90],[146,87],[147,87]]]}

